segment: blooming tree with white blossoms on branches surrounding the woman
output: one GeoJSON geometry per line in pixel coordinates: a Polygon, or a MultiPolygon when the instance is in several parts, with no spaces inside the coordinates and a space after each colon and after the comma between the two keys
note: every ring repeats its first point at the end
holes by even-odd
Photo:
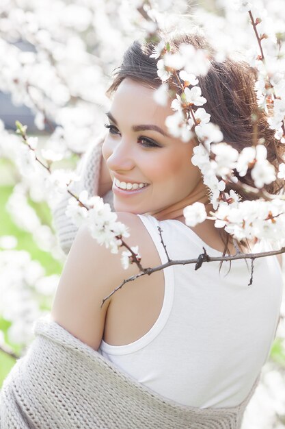
{"type": "MultiPolygon", "coordinates": [[[[187,25],[193,26],[195,22],[211,38],[217,62],[242,51],[256,69],[258,107],[266,112],[275,138],[285,144],[284,8],[281,0],[271,0],[270,4],[265,0],[204,3],[206,7],[191,7],[191,1],[186,0],[2,1],[0,90],[10,93],[15,104],[29,106],[38,129],[49,132],[43,146],[37,137],[29,136],[25,125],[17,123],[21,136],[18,138],[0,122],[0,156],[14,162],[21,177],[10,195],[7,210],[20,228],[31,232],[39,247],[53,252],[58,260],[62,260],[62,254],[55,234],[51,227],[42,224],[29,199],[47,201],[53,208],[67,189],[70,204],[66,214],[76,225],[87,222],[92,236],[111,252],[125,247],[122,267],[126,273],[130,263],[138,265],[139,275],[164,268],[144,268],[139,247],[130,248],[124,241],[128,230],[117,221],[116,213],[98,196],[87,195],[86,191],[75,195],[70,184],[79,177],[73,169],[62,167],[65,160],[68,165],[74,158],[79,160],[102,130],[103,111],[109,104],[105,96],[109,75],[120,64],[124,49],[138,35],[157,40],[152,57],[158,60],[161,86],[154,99],[165,105],[172,97],[173,114],[167,117],[167,128],[185,144],[196,141],[192,162],[200,168],[211,195],[210,216],[203,204],[195,203],[184,210],[187,225],[194,226],[208,217],[236,241],[265,238],[274,247],[268,254],[285,252],[285,197],[283,193],[273,195],[265,189],[275,181],[283,186],[285,163],[275,171],[258,133],[252,146],[240,152],[223,141],[221,130],[203,107],[207,100],[200,77],[206,75],[210,66],[208,52],[192,45],[180,45],[173,51],[167,40],[159,41],[157,33],[159,28],[175,26],[178,19],[182,22],[175,13],[179,10],[187,25]],[[219,14],[213,13],[215,8],[219,14]],[[25,42],[25,49],[21,48],[21,42],[25,42]],[[169,82],[176,83],[176,94],[169,82]],[[239,177],[249,173],[253,185],[243,184],[236,173],[239,177]],[[235,191],[227,192],[226,186],[231,184],[235,191]],[[239,192],[254,196],[254,201],[241,201],[239,192]]],[[[163,240],[161,231],[160,234],[163,240]]],[[[49,309],[57,283],[57,277],[46,275],[27,252],[16,250],[13,240],[6,237],[0,243],[0,265],[4,267],[0,314],[9,326],[0,341],[6,351],[7,342],[23,347],[29,343],[31,323],[49,309]],[[13,308],[8,302],[14,302],[13,308]]],[[[248,256],[237,252],[218,258],[204,251],[188,263],[195,263],[198,269],[211,260],[251,258],[253,263],[262,256],[265,254],[248,256]]],[[[172,263],[175,261],[168,258],[168,265],[172,263]]],[[[139,275],[126,279],[113,293],[139,275]]],[[[275,415],[270,419],[272,425],[274,420],[275,427],[281,427],[277,426],[275,415]]]]}

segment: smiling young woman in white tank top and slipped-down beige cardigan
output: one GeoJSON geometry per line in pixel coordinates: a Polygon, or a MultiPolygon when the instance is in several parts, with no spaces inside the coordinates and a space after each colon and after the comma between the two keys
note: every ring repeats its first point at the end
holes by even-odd
{"type": "MultiPolygon", "coordinates": [[[[176,49],[181,42],[206,47],[201,36],[184,36],[170,45],[176,49]]],[[[83,176],[93,193],[110,195],[112,189],[118,220],[131,233],[126,243],[139,245],[144,267],[167,262],[159,226],[172,260],[197,258],[203,247],[211,256],[221,256],[225,245],[235,254],[234,244],[213,221],[185,225],[185,206],[201,201],[211,210],[211,205],[200,170],[191,163],[194,143],[185,144],[167,131],[171,100],[165,107],[154,101],[161,82],[152,49],[135,42],[126,52],[109,89],[113,101],[103,160],[99,144],[89,154],[92,161],[83,165],[83,176]],[[86,173],[90,164],[96,180],[86,173]]],[[[254,72],[242,62],[212,59],[211,64],[200,78],[205,108],[225,140],[241,150],[252,145],[254,72]]],[[[282,149],[264,118],[260,134],[277,167],[282,149]]],[[[68,250],[76,228],[64,225],[62,230],[64,204],[56,213],[57,228],[68,250]]],[[[241,244],[241,249],[259,252],[261,246],[241,244]]],[[[51,320],[38,323],[24,363],[4,384],[5,422],[18,413],[26,424],[21,428],[241,427],[280,315],[277,258],[256,260],[251,286],[245,260],[221,267],[204,263],[198,271],[193,265],[174,265],[128,282],[101,308],[103,299],[136,273],[135,264],[122,269],[120,252],[111,254],[87,228],[79,230],[51,320]]]]}

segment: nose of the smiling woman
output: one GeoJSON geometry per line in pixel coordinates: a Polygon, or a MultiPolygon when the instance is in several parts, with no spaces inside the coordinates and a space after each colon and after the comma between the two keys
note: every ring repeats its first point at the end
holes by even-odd
{"type": "Polygon", "coordinates": [[[103,145],[103,156],[107,167],[112,171],[131,170],[135,167],[130,144],[120,138],[111,143],[105,141],[103,145]]]}

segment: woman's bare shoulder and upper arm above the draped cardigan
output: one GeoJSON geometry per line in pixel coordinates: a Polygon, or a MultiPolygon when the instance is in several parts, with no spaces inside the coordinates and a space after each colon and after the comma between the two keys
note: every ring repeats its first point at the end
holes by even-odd
{"type": "MultiPolygon", "coordinates": [[[[159,264],[152,238],[137,215],[118,212],[118,221],[126,225],[130,236],[124,238],[130,247],[138,245],[144,267],[159,264]]],[[[137,265],[127,270],[121,256],[112,254],[105,245],[99,245],[89,228],[79,229],[66,260],[53,301],[51,317],[77,338],[98,349],[103,338],[105,317],[111,303],[101,307],[103,299],[128,277],[139,273],[137,265]]]]}

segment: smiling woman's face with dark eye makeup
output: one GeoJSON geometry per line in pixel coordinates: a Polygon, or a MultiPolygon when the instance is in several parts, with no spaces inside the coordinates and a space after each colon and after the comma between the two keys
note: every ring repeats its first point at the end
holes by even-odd
{"type": "Polygon", "coordinates": [[[124,79],[107,114],[103,156],[113,179],[117,212],[157,212],[187,197],[201,180],[191,163],[193,144],[167,133],[165,118],[173,114],[170,101],[159,106],[153,95],[151,88],[124,79]],[[128,189],[131,184],[135,185],[128,189]]]}

